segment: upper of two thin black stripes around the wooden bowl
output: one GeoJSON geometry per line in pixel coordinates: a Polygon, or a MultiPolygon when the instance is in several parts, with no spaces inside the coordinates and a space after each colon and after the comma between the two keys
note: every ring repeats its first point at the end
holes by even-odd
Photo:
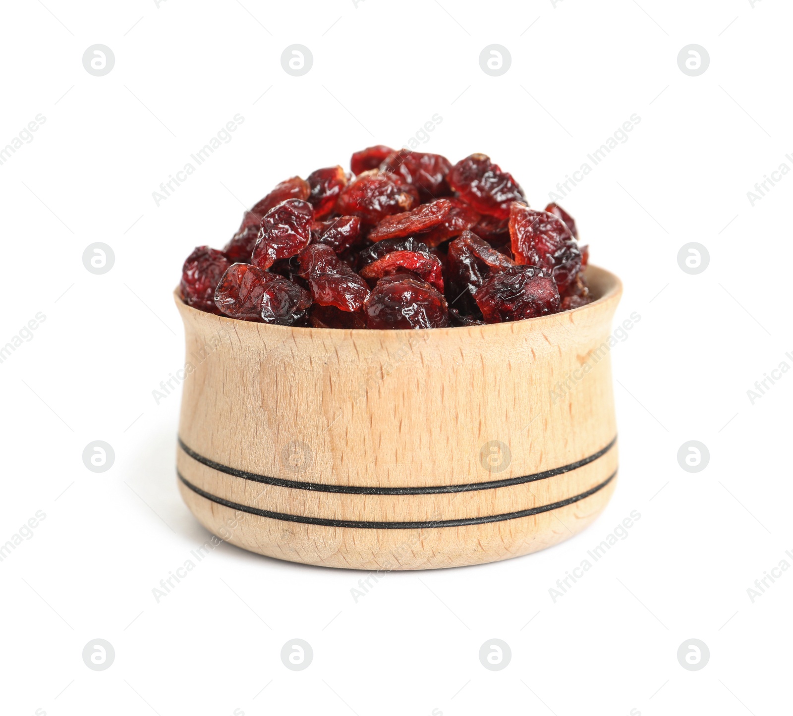
{"type": "Polygon", "coordinates": [[[492,480],[489,482],[471,482],[469,484],[444,484],[444,485],[430,485],[428,487],[418,488],[380,488],[380,487],[361,487],[357,485],[347,484],[324,484],[321,482],[301,482],[297,480],[284,480],[281,477],[267,477],[266,475],[257,475],[256,473],[247,473],[245,470],[238,470],[228,465],[223,465],[220,462],[205,458],[203,455],[198,454],[195,450],[186,446],[182,438],[178,438],[179,447],[185,451],[186,454],[193,458],[193,460],[200,462],[201,465],[206,465],[212,469],[216,469],[220,473],[233,475],[234,477],[242,477],[243,480],[251,480],[254,482],[262,482],[264,484],[273,484],[276,487],[293,488],[296,490],[316,490],[317,492],[343,492],[347,495],[437,495],[447,492],[473,492],[475,490],[492,490],[494,488],[506,488],[513,484],[523,484],[526,482],[534,482],[537,480],[546,480],[548,477],[561,475],[562,473],[569,473],[571,470],[576,470],[590,462],[602,458],[617,442],[615,435],[614,439],[608,443],[602,450],[589,455],[588,458],[583,458],[576,462],[571,462],[569,465],[562,465],[550,470],[545,470],[542,473],[534,473],[533,475],[523,475],[523,477],[510,477],[507,480],[492,480]]]}

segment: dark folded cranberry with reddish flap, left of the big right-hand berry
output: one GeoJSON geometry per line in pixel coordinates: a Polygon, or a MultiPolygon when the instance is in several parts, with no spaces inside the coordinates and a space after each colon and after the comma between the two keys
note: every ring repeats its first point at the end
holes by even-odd
{"type": "Polygon", "coordinates": [[[462,232],[449,244],[448,262],[450,289],[454,293],[450,300],[463,310],[469,308],[470,311],[473,311],[470,298],[485,282],[485,278],[515,265],[510,258],[469,231],[462,232]]]}

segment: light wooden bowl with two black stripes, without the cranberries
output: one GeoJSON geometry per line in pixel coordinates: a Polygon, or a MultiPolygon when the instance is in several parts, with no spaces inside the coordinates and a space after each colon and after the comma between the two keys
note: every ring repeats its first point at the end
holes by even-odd
{"type": "Polygon", "coordinates": [[[309,565],[434,569],[561,542],[615,488],[611,318],[596,301],[417,331],[248,323],[176,303],[178,484],[199,522],[309,565]]]}

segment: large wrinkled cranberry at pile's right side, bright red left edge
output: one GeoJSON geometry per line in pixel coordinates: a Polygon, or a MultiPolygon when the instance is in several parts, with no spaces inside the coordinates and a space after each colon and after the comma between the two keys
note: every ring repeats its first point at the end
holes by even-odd
{"type": "Polygon", "coordinates": [[[564,292],[581,267],[581,252],[564,221],[548,212],[513,204],[509,233],[515,262],[538,266],[564,292]]]}

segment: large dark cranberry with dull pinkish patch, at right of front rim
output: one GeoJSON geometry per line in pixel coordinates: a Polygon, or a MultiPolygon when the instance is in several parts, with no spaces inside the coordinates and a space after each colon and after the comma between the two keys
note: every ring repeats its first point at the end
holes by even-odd
{"type": "Polygon", "coordinates": [[[488,278],[474,294],[485,323],[500,324],[556,313],[556,281],[537,266],[510,266],[488,278]]]}

